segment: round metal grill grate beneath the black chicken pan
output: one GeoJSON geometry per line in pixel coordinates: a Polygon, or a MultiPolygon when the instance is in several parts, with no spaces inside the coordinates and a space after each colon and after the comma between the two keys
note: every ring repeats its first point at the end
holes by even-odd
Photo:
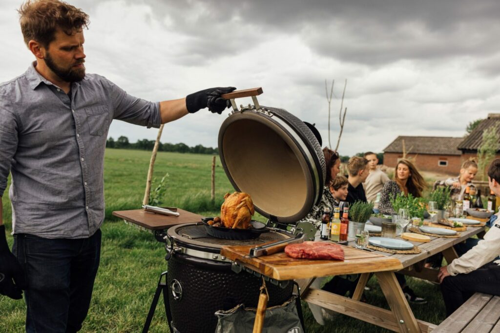
{"type": "Polygon", "coordinates": [[[177,234],[184,239],[191,239],[197,242],[208,243],[218,246],[223,245],[258,245],[290,238],[290,236],[275,231],[260,234],[256,239],[249,240],[229,240],[209,236],[206,234],[203,225],[189,225],[176,230],[177,234]]]}

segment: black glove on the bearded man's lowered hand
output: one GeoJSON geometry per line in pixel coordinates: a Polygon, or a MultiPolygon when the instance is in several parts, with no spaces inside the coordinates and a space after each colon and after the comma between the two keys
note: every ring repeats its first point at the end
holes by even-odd
{"type": "Polygon", "coordinates": [[[0,294],[14,300],[22,298],[26,280],[17,258],[10,252],[5,238],[5,226],[0,226],[0,294]],[[13,282],[12,282],[13,280],[13,282]]]}

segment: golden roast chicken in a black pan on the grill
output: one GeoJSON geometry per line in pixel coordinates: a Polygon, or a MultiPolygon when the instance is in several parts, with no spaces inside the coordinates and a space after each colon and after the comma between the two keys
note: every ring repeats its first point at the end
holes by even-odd
{"type": "Polygon", "coordinates": [[[231,239],[254,239],[268,232],[265,224],[252,220],[255,214],[250,196],[243,192],[227,193],[220,207],[220,217],[205,217],[201,222],[210,236],[231,239]]]}

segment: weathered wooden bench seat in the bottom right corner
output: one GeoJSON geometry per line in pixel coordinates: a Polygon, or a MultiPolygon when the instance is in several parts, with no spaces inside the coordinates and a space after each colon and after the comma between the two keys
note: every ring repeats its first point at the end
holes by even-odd
{"type": "Polygon", "coordinates": [[[500,297],[475,293],[432,333],[500,333],[500,297]]]}

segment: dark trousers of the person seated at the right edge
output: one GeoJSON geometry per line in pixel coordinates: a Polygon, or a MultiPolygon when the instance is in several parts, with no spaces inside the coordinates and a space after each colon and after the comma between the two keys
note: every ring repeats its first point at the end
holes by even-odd
{"type": "Polygon", "coordinates": [[[500,266],[489,263],[468,274],[444,278],[441,293],[446,306],[446,317],[476,292],[500,296],[500,266]]]}

